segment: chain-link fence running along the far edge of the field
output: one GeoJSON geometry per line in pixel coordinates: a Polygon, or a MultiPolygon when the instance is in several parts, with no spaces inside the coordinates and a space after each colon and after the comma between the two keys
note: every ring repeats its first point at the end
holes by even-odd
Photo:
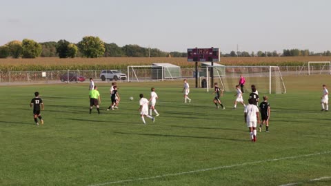
{"type": "MultiPolygon", "coordinates": [[[[226,67],[226,66],[225,66],[226,67]]],[[[254,66],[252,66],[254,67],[254,66]]],[[[308,75],[308,66],[279,66],[282,76],[302,76],[308,75]]],[[[128,74],[128,70],[118,70],[123,74],[128,74]]],[[[203,71],[205,68],[198,69],[198,76],[205,76],[203,71]]],[[[181,78],[193,78],[195,75],[194,68],[181,68],[181,78]]],[[[129,73],[132,73],[131,71],[129,73]]],[[[137,69],[135,70],[139,79],[146,81],[153,80],[151,78],[151,69],[137,69]]],[[[88,81],[92,77],[95,81],[101,81],[101,70],[48,70],[48,71],[7,71],[0,70],[0,83],[11,82],[36,82],[36,83],[50,83],[50,82],[77,82],[88,81]],[[82,76],[82,77],[81,77],[82,76]],[[69,81],[68,81],[69,80],[69,81]]],[[[310,66],[310,74],[329,74],[328,68],[323,68],[323,65],[310,66]]],[[[132,74],[130,74],[132,77],[132,74]]],[[[106,80],[108,81],[108,80],[106,80]]],[[[126,81],[126,80],[119,80],[126,81]]],[[[134,81],[134,80],[133,80],[134,81]]],[[[155,80],[153,80],[155,81],[155,80]]]]}

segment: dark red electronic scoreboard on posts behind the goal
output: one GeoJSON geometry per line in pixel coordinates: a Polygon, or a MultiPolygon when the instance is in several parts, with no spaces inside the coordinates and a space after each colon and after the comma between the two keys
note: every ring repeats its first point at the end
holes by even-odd
{"type": "Polygon", "coordinates": [[[188,61],[194,62],[219,62],[219,48],[188,48],[188,61]]]}

